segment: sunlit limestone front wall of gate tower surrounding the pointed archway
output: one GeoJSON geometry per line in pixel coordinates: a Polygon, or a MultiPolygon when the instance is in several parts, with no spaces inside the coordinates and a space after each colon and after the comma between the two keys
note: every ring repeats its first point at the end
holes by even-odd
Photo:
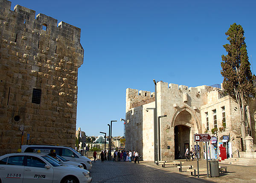
{"type": "Polygon", "coordinates": [[[200,109],[207,102],[206,93],[203,88],[157,82],[157,116],[167,115],[160,119],[161,159],[175,158],[174,127],[178,124],[190,127],[189,145],[194,145],[193,135],[202,129],[200,109]],[[185,117],[178,119],[182,112],[185,117]]]}

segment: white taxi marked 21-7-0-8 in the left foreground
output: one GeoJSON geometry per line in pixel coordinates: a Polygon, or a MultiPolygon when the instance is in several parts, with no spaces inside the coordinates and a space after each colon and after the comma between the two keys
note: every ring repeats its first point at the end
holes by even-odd
{"type": "Polygon", "coordinates": [[[0,156],[0,183],[90,183],[90,172],[60,165],[44,154],[13,153],[0,156]]]}

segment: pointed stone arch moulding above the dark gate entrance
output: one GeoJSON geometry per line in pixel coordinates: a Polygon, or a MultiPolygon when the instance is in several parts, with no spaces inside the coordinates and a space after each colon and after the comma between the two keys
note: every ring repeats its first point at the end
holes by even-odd
{"type": "Polygon", "coordinates": [[[186,107],[186,106],[180,107],[179,109],[177,109],[175,111],[175,113],[172,116],[171,127],[174,128],[174,125],[176,126],[176,125],[181,124],[180,121],[176,121],[176,118],[183,111],[186,111],[191,115],[191,119],[193,121],[193,124],[189,123],[189,121],[184,121],[185,123],[183,122],[182,125],[185,125],[187,127],[192,127],[192,125],[194,125],[194,126],[196,126],[197,130],[200,130],[201,128],[200,128],[199,120],[198,120],[195,112],[193,110],[191,110],[189,107],[186,107]]]}

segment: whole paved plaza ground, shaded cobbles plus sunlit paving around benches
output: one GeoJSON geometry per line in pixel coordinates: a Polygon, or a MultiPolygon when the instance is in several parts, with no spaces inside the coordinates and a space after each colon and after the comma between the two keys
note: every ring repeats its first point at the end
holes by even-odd
{"type": "MultiPolygon", "coordinates": [[[[196,161],[184,162],[184,165],[197,167],[196,161]]],[[[90,170],[93,183],[255,183],[256,166],[227,166],[227,173],[220,177],[207,178],[206,172],[200,173],[200,179],[191,176],[189,172],[179,172],[176,166],[163,168],[154,162],[141,161],[140,164],[128,162],[93,162],[90,170]]],[[[199,160],[200,168],[206,167],[205,160],[199,160]]]]}

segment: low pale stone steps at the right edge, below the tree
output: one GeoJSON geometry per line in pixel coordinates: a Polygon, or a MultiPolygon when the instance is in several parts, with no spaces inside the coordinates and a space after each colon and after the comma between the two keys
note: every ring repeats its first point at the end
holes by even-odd
{"type": "Polygon", "coordinates": [[[240,166],[256,166],[256,158],[228,158],[221,160],[219,163],[240,166]]]}

